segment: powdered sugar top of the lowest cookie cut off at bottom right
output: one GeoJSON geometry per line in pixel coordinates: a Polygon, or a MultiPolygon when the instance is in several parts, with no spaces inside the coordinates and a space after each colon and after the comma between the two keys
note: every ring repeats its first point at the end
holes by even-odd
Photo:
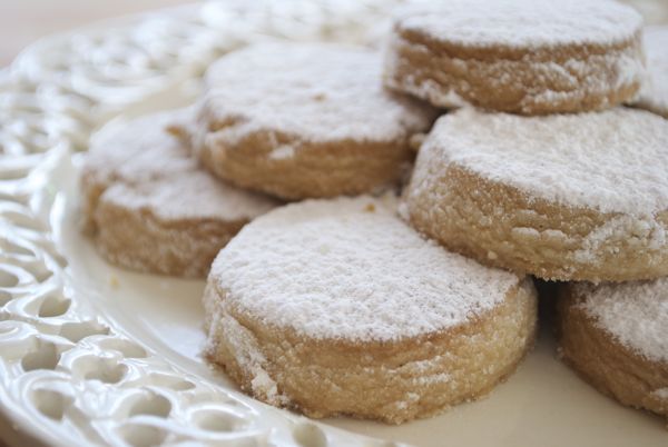
{"type": "Polygon", "coordinates": [[[650,360],[668,361],[668,278],[573,287],[598,327],[650,360]]]}

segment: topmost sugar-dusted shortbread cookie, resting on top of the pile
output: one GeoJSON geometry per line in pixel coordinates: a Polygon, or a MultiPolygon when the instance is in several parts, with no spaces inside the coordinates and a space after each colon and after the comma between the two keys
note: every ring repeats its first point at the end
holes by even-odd
{"type": "Polygon", "coordinates": [[[606,109],[640,88],[641,28],[607,0],[422,2],[397,13],[385,85],[445,108],[606,109]]]}

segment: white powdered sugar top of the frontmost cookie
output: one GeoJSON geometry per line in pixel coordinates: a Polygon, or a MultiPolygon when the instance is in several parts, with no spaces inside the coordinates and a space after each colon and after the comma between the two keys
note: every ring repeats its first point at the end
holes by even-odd
{"type": "Polygon", "coordinates": [[[314,339],[390,341],[469,322],[519,285],[423,239],[371,197],[289,205],[245,227],[209,281],[227,305],[314,339]]]}

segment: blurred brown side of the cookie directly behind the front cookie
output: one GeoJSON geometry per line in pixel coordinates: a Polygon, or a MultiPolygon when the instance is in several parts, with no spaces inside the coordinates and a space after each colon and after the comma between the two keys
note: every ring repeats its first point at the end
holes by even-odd
{"type": "Polygon", "coordinates": [[[196,143],[204,166],[233,185],[288,200],[355,196],[397,185],[414,157],[407,138],[313,142],[257,130],[229,142],[218,131],[196,143]],[[289,153],[284,156],[281,151],[286,149],[289,153]]]}

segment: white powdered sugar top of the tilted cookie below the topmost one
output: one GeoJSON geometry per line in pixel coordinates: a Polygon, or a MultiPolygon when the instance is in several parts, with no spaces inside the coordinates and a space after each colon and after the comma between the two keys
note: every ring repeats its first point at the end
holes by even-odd
{"type": "Polygon", "coordinates": [[[464,108],[439,119],[421,149],[428,156],[564,206],[637,217],[668,209],[668,121],[642,110],[520,117],[464,108]]]}

